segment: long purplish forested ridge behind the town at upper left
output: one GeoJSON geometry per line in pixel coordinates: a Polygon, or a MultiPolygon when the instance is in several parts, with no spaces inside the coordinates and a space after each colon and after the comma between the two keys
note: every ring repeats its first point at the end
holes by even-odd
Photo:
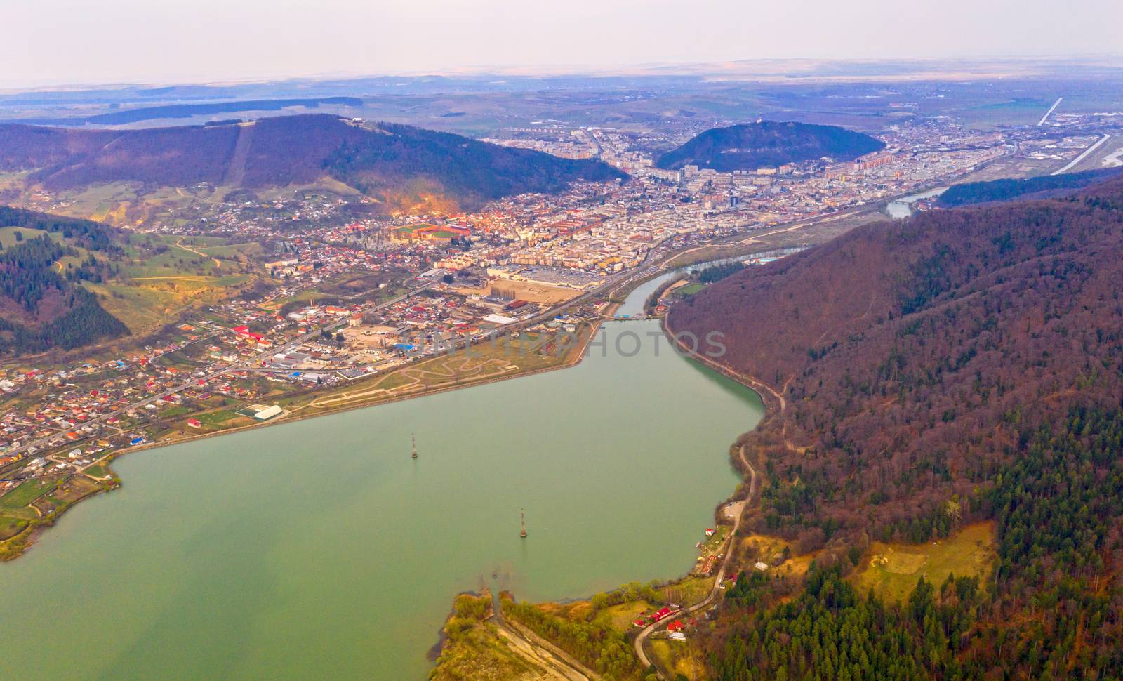
{"type": "Polygon", "coordinates": [[[363,127],[329,115],[140,130],[0,125],[0,171],[34,171],[51,190],[118,181],[150,187],[265,188],[326,176],[393,208],[430,196],[475,207],[624,175],[597,161],[511,149],[404,125],[363,127]]]}

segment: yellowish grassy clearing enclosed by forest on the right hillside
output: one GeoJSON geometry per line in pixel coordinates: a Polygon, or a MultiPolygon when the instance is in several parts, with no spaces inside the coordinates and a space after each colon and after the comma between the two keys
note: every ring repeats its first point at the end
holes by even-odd
{"type": "Polygon", "coordinates": [[[993,523],[968,525],[925,544],[874,542],[869,560],[851,580],[861,592],[874,589],[885,598],[903,601],[921,576],[934,584],[949,574],[985,578],[994,563],[994,543],[993,523]]]}

